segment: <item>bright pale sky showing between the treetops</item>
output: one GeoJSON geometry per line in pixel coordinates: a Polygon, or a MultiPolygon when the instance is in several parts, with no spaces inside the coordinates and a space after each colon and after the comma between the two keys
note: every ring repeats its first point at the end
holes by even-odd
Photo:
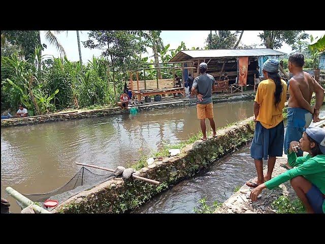
{"type": "MultiPolygon", "coordinates": [[[[262,43],[261,38],[258,37],[259,33],[263,31],[244,31],[241,42],[245,45],[258,44],[262,43]]],[[[305,31],[307,34],[313,35],[313,37],[320,37],[325,34],[325,31],[305,31]]],[[[163,39],[164,45],[170,44],[170,48],[177,48],[181,42],[185,42],[187,48],[191,47],[200,47],[203,48],[206,43],[210,31],[162,31],[160,34],[161,39],[163,39]]],[[[79,31],[80,41],[88,40],[88,31],[79,31]]],[[[58,40],[66,50],[69,60],[79,61],[79,52],[78,52],[78,43],[77,43],[77,33],[76,31],[69,31],[67,33],[61,33],[58,36],[58,40]]],[[[44,32],[41,32],[42,43],[47,45],[47,48],[44,50],[43,54],[53,55],[58,57],[60,54],[56,49],[51,46],[48,42],[45,41],[44,32]]],[[[257,48],[265,48],[264,45],[257,46],[257,48]]],[[[281,52],[290,53],[291,48],[285,43],[279,49],[276,49],[281,52]]],[[[82,62],[87,63],[91,59],[92,55],[100,56],[102,53],[98,49],[89,49],[85,48],[81,43],[81,55],[82,62]]],[[[145,56],[152,55],[152,52],[147,53],[145,56]]],[[[153,59],[153,58],[152,58],[153,59]]],[[[150,58],[149,58],[150,60],[150,58]]]]}

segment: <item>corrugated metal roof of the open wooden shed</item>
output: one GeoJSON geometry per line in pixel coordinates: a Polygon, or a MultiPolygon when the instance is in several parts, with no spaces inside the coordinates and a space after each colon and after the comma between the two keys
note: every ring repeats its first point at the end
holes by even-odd
{"type": "MultiPolygon", "coordinates": [[[[285,55],[284,52],[279,52],[269,48],[256,49],[213,49],[213,50],[184,50],[180,51],[193,58],[198,57],[240,57],[240,56],[266,56],[266,55],[285,55]]],[[[175,57],[178,55],[177,53],[175,57]]]]}

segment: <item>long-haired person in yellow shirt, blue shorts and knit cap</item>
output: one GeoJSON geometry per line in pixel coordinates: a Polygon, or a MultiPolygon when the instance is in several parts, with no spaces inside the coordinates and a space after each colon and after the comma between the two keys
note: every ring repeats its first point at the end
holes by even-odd
{"type": "Polygon", "coordinates": [[[282,156],[284,125],[282,109],[286,100],[287,84],[279,75],[277,59],[268,59],[263,64],[266,80],[259,83],[254,102],[255,132],[250,147],[257,171],[256,182],[246,182],[248,187],[257,187],[272,178],[277,156],[282,156]],[[268,160],[268,172],[263,175],[263,159],[268,160]]]}

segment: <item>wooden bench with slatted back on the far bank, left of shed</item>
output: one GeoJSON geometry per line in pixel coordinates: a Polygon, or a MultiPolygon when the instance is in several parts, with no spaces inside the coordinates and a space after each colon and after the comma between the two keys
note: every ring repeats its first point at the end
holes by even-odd
{"type": "Polygon", "coordinates": [[[138,97],[140,102],[143,96],[167,95],[181,93],[185,97],[184,87],[174,87],[176,80],[159,79],[159,80],[132,80],[128,82],[127,88],[132,90],[132,95],[138,97]],[[138,85],[139,84],[139,85],[138,85]],[[138,88],[139,86],[139,88],[138,88]]]}

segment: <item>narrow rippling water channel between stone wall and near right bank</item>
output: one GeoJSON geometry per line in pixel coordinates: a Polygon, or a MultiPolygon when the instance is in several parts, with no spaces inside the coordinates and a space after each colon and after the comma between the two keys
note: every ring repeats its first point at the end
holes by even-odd
{"type": "MultiPolygon", "coordinates": [[[[321,107],[319,117],[325,117],[325,106],[321,107]]],[[[133,213],[191,214],[194,207],[200,207],[200,198],[206,197],[206,203],[210,206],[214,201],[224,202],[234,193],[236,187],[241,187],[248,179],[256,176],[249,148],[250,143],[243,145],[235,153],[216,161],[209,169],[154,196],[133,213]]],[[[267,161],[264,161],[264,165],[266,164],[267,161]]]]}

